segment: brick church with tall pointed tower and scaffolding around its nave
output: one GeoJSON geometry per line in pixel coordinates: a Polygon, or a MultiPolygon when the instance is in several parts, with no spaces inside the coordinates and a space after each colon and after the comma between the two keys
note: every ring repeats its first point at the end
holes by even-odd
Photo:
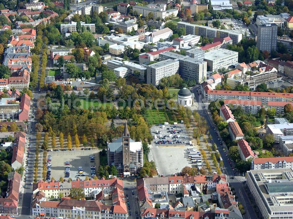
{"type": "Polygon", "coordinates": [[[142,142],[135,142],[130,134],[125,121],[122,137],[107,145],[108,165],[115,165],[118,174],[136,174],[143,166],[142,142]]]}

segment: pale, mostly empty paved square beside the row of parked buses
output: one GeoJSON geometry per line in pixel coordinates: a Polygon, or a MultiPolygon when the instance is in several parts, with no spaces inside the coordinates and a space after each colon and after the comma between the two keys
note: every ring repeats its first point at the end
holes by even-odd
{"type": "MultiPolygon", "coordinates": [[[[185,166],[196,166],[188,158],[187,148],[189,145],[181,146],[151,146],[151,156],[156,163],[160,175],[171,176],[179,173],[185,166]]],[[[198,151],[197,146],[193,146],[198,151]]]]}

